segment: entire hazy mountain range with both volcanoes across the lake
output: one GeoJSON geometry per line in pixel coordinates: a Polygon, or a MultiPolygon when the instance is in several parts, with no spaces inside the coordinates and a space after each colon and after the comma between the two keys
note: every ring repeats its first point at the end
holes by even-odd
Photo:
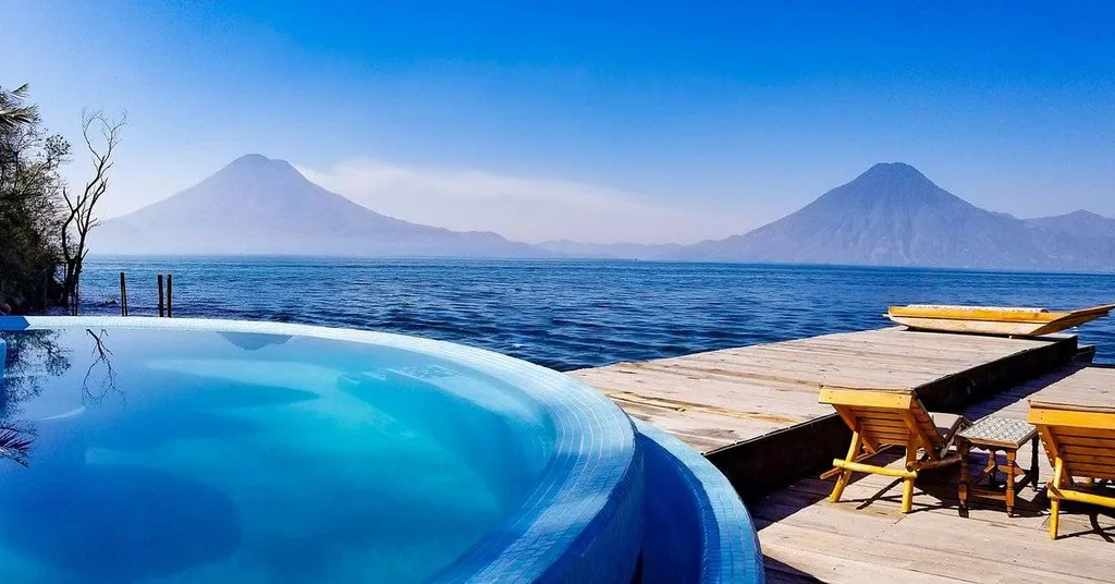
{"type": "Polygon", "coordinates": [[[902,163],[876,164],[744,234],[682,246],[527,245],[376,213],[285,161],[236,159],[169,199],[105,221],[93,252],[353,257],[617,258],[980,269],[1115,270],[1115,219],[1088,211],[1022,220],[987,211],[902,163]]]}

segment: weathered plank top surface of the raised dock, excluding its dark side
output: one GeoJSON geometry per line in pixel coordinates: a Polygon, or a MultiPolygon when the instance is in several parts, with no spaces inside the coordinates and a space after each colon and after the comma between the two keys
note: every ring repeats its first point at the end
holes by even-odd
{"type": "MultiPolygon", "coordinates": [[[[1065,337],[1057,337],[1064,339],[1065,337]]],[[[753,345],[571,374],[631,417],[709,452],[833,413],[822,385],[923,387],[1053,341],[883,328],[753,345]]]]}

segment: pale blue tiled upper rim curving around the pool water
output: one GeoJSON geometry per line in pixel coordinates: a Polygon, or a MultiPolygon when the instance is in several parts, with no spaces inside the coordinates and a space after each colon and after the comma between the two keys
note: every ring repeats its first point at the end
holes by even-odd
{"type": "Polygon", "coordinates": [[[614,523],[610,516],[626,508],[617,497],[629,494],[632,480],[641,480],[636,432],[619,406],[571,376],[491,351],[391,333],[293,323],[130,316],[0,317],[0,331],[75,327],[255,333],[376,344],[453,361],[523,391],[551,417],[553,459],[518,510],[443,571],[444,580],[459,581],[464,576],[486,581],[497,574],[502,581],[525,582],[560,573],[556,568],[562,565],[584,565],[585,540],[600,535],[605,524],[614,523]]]}

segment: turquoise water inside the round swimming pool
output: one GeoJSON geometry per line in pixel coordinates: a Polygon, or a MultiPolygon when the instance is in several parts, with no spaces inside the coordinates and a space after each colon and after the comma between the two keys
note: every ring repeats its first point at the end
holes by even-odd
{"type": "Polygon", "coordinates": [[[0,582],[416,582],[513,513],[552,434],[513,387],[396,348],[4,332],[0,582]],[[498,412],[498,413],[496,413],[498,412]]]}

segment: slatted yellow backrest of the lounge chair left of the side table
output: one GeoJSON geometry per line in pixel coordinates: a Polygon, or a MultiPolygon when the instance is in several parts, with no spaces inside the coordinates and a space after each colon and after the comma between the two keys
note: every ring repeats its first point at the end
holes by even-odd
{"type": "Polygon", "coordinates": [[[823,387],[820,401],[835,408],[872,451],[885,446],[904,447],[911,435],[930,458],[940,458],[948,449],[944,437],[912,390],[823,387]]]}

